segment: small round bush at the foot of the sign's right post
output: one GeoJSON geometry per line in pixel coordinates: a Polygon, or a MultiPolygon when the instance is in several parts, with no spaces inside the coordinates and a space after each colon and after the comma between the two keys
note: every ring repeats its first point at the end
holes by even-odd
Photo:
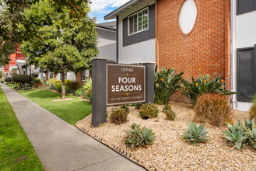
{"type": "Polygon", "coordinates": [[[157,117],[159,113],[158,108],[152,103],[144,103],[139,109],[139,114],[142,119],[149,119],[157,117]]]}

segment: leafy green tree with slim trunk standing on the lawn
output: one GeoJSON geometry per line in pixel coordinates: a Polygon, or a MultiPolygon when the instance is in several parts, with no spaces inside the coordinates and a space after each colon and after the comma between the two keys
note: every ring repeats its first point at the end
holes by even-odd
{"type": "Polygon", "coordinates": [[[26,21],[20,27],[30,34],[21,46],[29,63],[61,73],[61,99],[65,99],[65,73],[89,68],[90,58],[98,53],[95,19],[87,15],[89,1],[79,5],[86,14],[81,18],[72,17],[75,11],[69,6],[42,0],[25,10],[26,21]]]}

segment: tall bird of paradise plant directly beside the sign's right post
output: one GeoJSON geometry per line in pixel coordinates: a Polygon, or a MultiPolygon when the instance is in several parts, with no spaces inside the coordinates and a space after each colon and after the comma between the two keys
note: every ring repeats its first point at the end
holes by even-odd
{"type": "Polygon", "coordinates": [[[175,69],[162,68],[157,71],[157,65],[155,69],[155,103],[166,104],[169,102],[170,96],[177,92],[181,88],[181,75],[184,72],[177,74],[175,69]]]}

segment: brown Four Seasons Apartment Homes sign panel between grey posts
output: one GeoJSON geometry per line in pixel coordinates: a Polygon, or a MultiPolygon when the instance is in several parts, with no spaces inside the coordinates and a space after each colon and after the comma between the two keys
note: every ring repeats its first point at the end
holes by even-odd
{"type": "Polygon", "coordinates": [[[146,67],[107,64],[107,106],[146,102],[146,67]]]}

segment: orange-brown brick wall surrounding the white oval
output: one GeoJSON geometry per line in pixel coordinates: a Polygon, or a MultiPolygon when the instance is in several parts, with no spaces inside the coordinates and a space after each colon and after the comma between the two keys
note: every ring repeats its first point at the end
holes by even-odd
{"type": "MultiPolygon", "coordinates": [[[[223,74],[230,89],[230,0],[194,0],[198,16],[191,33],[182,33],[184,0],[156,0],[156,64],[176,68],[184,78],[223,74]]],[[[173,96],[181,99],[179,93],[173,96]]]]}

